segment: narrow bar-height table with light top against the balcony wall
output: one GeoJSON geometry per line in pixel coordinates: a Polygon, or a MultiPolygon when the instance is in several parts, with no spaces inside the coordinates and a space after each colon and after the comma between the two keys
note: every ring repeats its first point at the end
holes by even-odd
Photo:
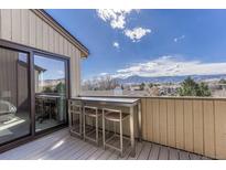
{"type": "Polygon", "coordinates": [[[111,105],[128,107],[130,114],[130,138],[131,138],[131,156],[136,155],[134,145],[134,107],[138,107],[138,138],[141,141],[141,100],[140,98],[121,98],[121,97],[72,97],[71,99],[80,100],[82,105],[96,104],[96,105],[111,105]]]}

